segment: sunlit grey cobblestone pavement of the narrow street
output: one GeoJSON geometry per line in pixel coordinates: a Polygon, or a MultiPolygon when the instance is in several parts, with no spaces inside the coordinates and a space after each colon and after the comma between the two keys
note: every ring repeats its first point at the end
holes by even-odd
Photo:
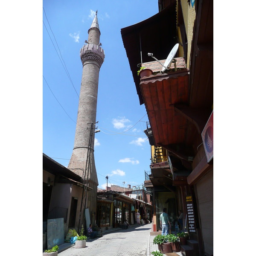
{"type": "MultiPolygon", "coordinates": [[[[85,248],[70,247],[59,256],[145,256],[152,224],[131,226],[87,240],[85,248]]],[[[152,242],[153,243],[153,242],[152,242]]]]}

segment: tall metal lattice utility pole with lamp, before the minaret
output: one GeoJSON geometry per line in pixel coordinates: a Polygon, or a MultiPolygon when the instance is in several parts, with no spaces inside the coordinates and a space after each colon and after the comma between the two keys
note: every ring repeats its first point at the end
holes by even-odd
{"type": "MultiPolygon", "coordinates": [[[[92,137],[93,137],[94,133],[100,132],[100,130],[93,131],[93,129],[96,129],[96,128],[93,128],[93,125],[97,124],[98,122],[99,121],[97,121],[95,123],[94,122],[87,123],[87,125],[90,124],[91,127],[90,127],[90,137],[89,137],[89,144],[88,144],[88,150],[87,150],[87,158],[86,158],[86,164],[85,164],[85,172],[84,172],[84,183],[85,183],[85,175],[87,172],[87,183],[86,183],[85,202],[84,202],[84,222],[85,222],[85,208],[86,208],[87,189],[88,189],[88,176],[89,176],[89,167],[90,167],[90,151],[91,151],[92,137]],[[88,160],[88,157],[89,157],[89,160],[88,160]]],[[[79,215],[79,222],[78,222],[78,233],[79,233],[79,225],[80,225],[80,220],[81,220],[83,196],[84,196],[84,184],[83,184],[82,200],[81,200],[80,215],[79,215]]]]}

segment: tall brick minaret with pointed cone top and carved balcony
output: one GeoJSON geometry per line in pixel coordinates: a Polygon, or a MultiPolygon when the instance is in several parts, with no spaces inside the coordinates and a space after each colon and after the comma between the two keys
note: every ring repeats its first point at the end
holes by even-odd
{"type": "MultiPolygon", "coordinates": [[[[96,12],[93,23],[88,30],[88,42],[85,41],[86,44],[84,44],[80,50],[83,73],[77,113],[75,143],[73,153],[67,167],[81,177],[85,177],[85,179],[87,178],[87,173],[83,175],[83,172],[85,169],[90,137],[90,124],[88,125],[88,123],[96,122],[99,69],[105,58],[105,52],[102,47],[99,46],[99,37],[100,31],[96,12]],[[89,129],[87,129],[87,127],[89,129]]],[[[93,129],[93,131],[95,130],[93,129]]],[[[97,186],[99,185],[94,162],[94,134],[92,135],[88,180],[88,186],[93,188],[93,191],[88,191],[89,196],[87,196],[87,207],[90,209],[90,214],[91,210],[93,214],[96,212],[97,186]],[[92,206],[94,201],[95,206],[92,206]]]]}

